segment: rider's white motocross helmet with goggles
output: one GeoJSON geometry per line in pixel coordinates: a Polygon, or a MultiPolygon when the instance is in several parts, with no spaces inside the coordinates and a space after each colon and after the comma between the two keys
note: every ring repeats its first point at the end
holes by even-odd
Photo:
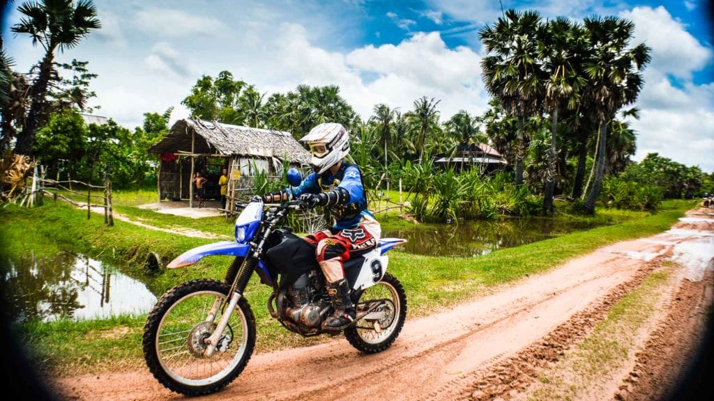
{"type": "Polygon", "coordinates": [[[350,153],[350,138],[345,127],[338,123],[322,123],[301,138],[310,146],[310,164],[321,174],[350,153]]]}

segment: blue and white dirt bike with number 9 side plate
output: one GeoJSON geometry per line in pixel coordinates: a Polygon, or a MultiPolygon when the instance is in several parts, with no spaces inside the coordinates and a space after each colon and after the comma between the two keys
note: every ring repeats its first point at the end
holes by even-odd
{"type": "MultiPolygon", "coordinates": [[[[300,183],[297,171],[288,181],[300,183]],[[296,178],[297,175],[297,178],[296,178]]],[[[166,292],[144,326],[144,358],[156,380],[183,395],[205,395],[226,387],[241,374],[253,353],[256,318],[243,291],[253,272],[272,288],[268,312],[286,329],[305,337],[343,333],[358,350],[386,350],[406,318],[406,294],[386,273],[388,257],[400,238],[382,238],[378,246],[344,263],[356,305],[356,318],[343,328],[323,328],[333,312],[315,246],[283,227],[301,200],[266,205],[253,200],[235,223],[235,241],[193,248],[167,268],[193,265],[209,255],[235,257],[223,282],[191,280],[166,292]]]]}

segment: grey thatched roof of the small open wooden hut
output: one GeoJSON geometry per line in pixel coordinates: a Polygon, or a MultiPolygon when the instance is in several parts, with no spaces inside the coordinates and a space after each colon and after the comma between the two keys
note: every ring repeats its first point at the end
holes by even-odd
{"type": "Polygon", "coordinates": [[[151,146],[151,153],[191,153],[191,135],[196,133],[196,154],[274,157],[295,163],[310,162],[310,153],[290,133],[233,126],[217,121],[183,118],[166,136],[151,146]]]}

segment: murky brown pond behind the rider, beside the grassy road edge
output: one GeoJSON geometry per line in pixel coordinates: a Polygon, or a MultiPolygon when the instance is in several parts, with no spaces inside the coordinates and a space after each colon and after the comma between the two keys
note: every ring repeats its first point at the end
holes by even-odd
{"type": "Polygon", "coordinates": [[[583,220],[506,218],[469,221],[458,225],[424,223],[408,228],[386,229],[382,237],[406,238],[406,244],[395,248],[406,253],[471,258],[576,230],[588,230],[597,225],[583,220]]]}

